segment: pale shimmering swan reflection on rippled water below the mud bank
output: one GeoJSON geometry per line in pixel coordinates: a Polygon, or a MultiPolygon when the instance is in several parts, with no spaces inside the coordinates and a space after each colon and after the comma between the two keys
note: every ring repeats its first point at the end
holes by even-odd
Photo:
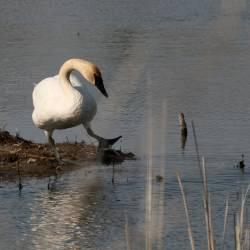
{"type": "MultiPolygon", "coordinates": [[[[53,249],[75,249],[80,248],[83,241],[87,244],[83,231],[86,232],[88,224],[95,220],[92,206],[97,205],[96,194],[101,188],[102,183],[94,177],[82,180],[82,192],[79,186],[68,186],[68,182],[63,183],[60,178],[51,180],[48,192],[43,199],[34,201],[31,208],[32,245],[39,249],[52,246],[53,249]]],[[[96,229],[98,227],[96,224],[96,229]]]]}

